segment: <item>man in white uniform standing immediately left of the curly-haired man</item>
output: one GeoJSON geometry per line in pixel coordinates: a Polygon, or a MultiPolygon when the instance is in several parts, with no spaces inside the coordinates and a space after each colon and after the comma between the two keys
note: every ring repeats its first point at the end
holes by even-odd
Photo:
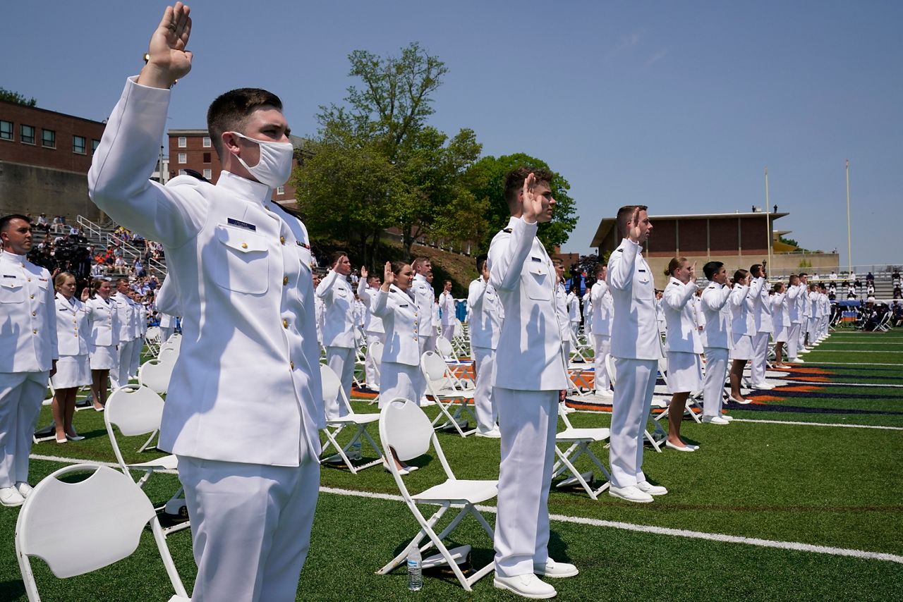
{"type": "Polygon", "coordinates": [[[470,316],[470,357],[477,375],[473,403],[477,411],[477,437],[499,439],[498,405],[492,384],[496,375],[496,349],[504,311],[498,293],[489,284],[487,255],[477,257],[480,277],[470,282],[467,315],[470,316]]]}

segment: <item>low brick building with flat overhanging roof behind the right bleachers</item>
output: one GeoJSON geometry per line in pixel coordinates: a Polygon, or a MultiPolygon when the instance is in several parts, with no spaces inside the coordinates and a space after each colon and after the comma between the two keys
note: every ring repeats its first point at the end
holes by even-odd
{"type": "MultiPolygon", "coordinates": [[[[656,288],[664,288],[667,278],[665,268],[672,257],[684,256],[697,262],[702,275],[702,265],[709,261],[720,261],[733,273],[738,268],[749,269],[751,264],[768,259],[768,244],[771,242],[771,268],[778,273],[800,267],[802,255],[795,249],[778,241],[779,235],[789,230],[777,231],[775,220],[788,213],[709,213],[700,215],[649,216],[652,235],[646,244],[645,255],[649,267],[656,278],[656,288]]],[[[615,218],[602,219],[591,245],[599,249],[600,257],[607,257],[618,248],[621,239],[615,218]]],[[[836,269],[839,255],[815,253],[805,255],[809,268],[836,269]]],[[[810,269],[810,271],[812,271],[810,269]]]]}

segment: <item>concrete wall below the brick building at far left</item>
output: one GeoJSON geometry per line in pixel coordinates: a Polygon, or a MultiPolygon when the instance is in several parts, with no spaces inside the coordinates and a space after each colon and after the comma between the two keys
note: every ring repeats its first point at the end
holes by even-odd
{"type": "Polygon", "coordinates": [[[44,212],[48,220],[65,216],[74,223],[78,215],[97,221],[100,210],[88,199],[88,176],[0,161],[0,214],[44,212]]]}

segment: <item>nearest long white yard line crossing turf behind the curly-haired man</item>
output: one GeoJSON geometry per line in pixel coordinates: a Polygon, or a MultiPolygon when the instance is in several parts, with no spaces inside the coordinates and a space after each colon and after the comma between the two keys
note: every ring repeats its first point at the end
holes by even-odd
{"type": "MultiPolygon", "coordinates": [[[[740,420],[740,419],[738,419],[740,420]]],[[[799,422],[799,424],[810,424],[810,422],[799,422]]],[[[831,425],[828,425],[831,426],[831,425]]],[[[841,425],[838,425],[841,426],[841,425]]],[[[853,425],[842,425],[842,426],[853,426],[853,425]]],[[[890,428],[890,427],[887,427],[890,428]]],[[[113,462],[88,462],[87,460],[79,459],[79,458],[60,458],[57,456],[43,456],[40,454],[32,454],[31,458],[38,460],[49,460],[51,462],[61,462],[65,464],[101,464],[103,466],[108,466],[112,468],[118,468],[118,464],[113,462]]],[[[174,474],[174,470],[166,470],[161,472],[167,472],[174,474]]],[[[389,502],[404,502],[404,498],[401,495],[391,495],[391,494],[378,494],[369,491],[355,491],[352,489],[340,489],[337,487],[320,487],[320,491],[324,494],[332,494],[332,495],[348,495],[351,497],[365,497],[368,499],[378,499],[378,500],[386,500],[389,502]]],[[[477,509],[480,512],[488,512],[491,514],[496,513],[496,507],[490,505],[478,505],[477,509]]],[[[607,527],[610,529],[622,529],[624,531],[633,531],[637,533],[652,533],[654,535],[672,535],[675,537],[688,537],[690,539],[699,539],[699,540],[707,540],[709,542],[721,542],[721,543],[744,543],[746,545],[754,545],[759,546],[760,548],[777,548],[779,550],[793,550],[793,551],[809,551],[817,554],[829,554],[832,556],[849,556],[852,558],[861,558],[866,560],[887,560],[889,562],[897,562],[898,564],[903,564],[903,556],[898,556],[897,554],[889,554],[885,552],[878,551],[861,551],[861,550],[848,550],[846,548],[832,548],[830,546],[823,545],[815,545],[812,543],[800,543],[800,542],[777,542],[774,540],[763,540],[758,537],[741,537],[739,535],[727,535],[724,533],[705,533],[702,531],[689,531],[687,529],[672,529],[669,527],[656,527],[651,524],[634,524],[634,523],[619,523],[616,521],[602,521],[595,518],[586,518],[583,516],[566,516],[564,514],[550,514],[549,519],[556,521],[558,523],[572,523],[572,524],[587,524],[594,527],[607,527]]]]}

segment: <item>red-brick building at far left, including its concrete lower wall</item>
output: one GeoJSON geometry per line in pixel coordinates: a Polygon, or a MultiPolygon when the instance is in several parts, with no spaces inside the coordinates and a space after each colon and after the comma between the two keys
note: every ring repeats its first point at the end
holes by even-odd
{"type": "Polygon", "coordinates": [[[97,219],[88,168],[105,125],[0,101],[0,214],[97,219]]]}

